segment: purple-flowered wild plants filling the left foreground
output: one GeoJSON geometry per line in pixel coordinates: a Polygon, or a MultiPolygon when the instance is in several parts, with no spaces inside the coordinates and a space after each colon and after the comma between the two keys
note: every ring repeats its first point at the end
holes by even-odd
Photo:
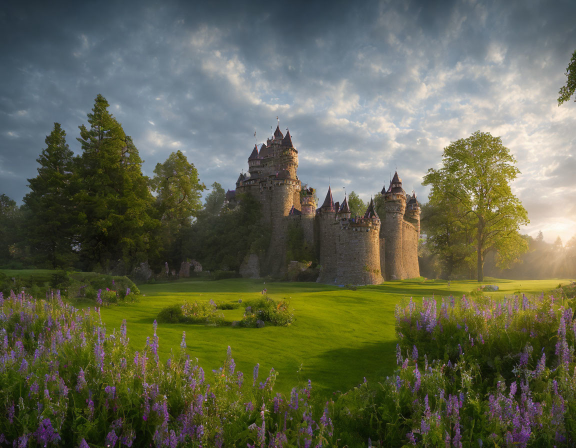
{"type": "Polygon", "coordinates": [[[244,377],[230,348],[204,373],[185,334],[160,360],[156,322],[135,352],[126,321],[107,329],[59,299],[0,299],[0,316],[3,446],[336,446],[310,385],[275,394],[274,369],[244,377]]]}

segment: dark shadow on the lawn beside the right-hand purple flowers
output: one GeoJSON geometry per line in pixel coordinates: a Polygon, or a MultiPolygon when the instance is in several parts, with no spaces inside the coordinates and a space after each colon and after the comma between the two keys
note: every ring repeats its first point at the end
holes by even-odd
{"type": "Polygon", "coordinates": [[[397,341],[388,340],[358,347],[335,348],[303,362],[302,375],[312,378],[323,378],[323,393],[346,392],[364,381],[381,381],[396,369],[397,341]],[[355,372],[362,376],[355,377],[355,372]],[[346,381],[343,379],[346,378],[346,381]]]}

